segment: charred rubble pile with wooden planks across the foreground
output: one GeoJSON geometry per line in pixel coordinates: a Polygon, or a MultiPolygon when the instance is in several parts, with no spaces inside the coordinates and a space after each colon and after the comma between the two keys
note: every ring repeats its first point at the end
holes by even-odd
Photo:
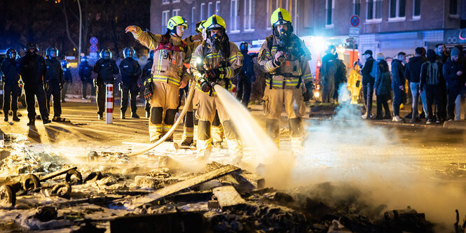
{"type": "Polygon", "coordinates": [[[20,167],[19,161],[31,165],[0,178],[0,229],[432,232],[423,213],[371,206],[358,190],[338,184],[285,192],[266,188],[259,174],[228,164],[212,162],[204,172],[192,173],[168,156],[154,155],[150,162],[132,159],[92,151],[83,157],[87,163],[65,165],[60,157],[15,147],[2,170],[10,171],[11,164],[20,167]],[[52,162],[54,169],[44,165],[52,162]]]}

